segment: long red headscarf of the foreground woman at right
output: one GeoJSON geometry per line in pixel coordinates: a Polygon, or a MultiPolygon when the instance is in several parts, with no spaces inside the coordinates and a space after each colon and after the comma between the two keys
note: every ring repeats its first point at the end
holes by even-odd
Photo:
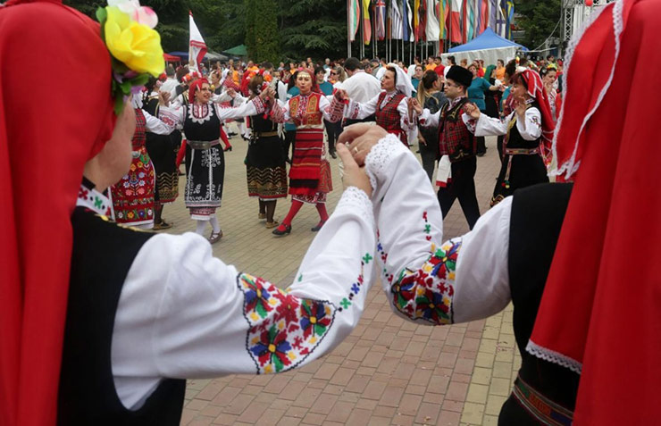
{"type": "Polygon", "coordinates": [[[566,62],[554,148],[574,186],[528,351],[581,372],[578,426],[658,422],[661,168],[649,106],[661,88],[648,70],[661,66],[659,27],[657,0],[608,4],[566,62]]]}

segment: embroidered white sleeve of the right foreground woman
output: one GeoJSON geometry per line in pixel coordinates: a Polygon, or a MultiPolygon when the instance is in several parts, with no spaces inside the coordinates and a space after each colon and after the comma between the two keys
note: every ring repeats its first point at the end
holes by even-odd
{"type": "Polygon", "coordinates": [[[503,309],[511,202],[485,214],[472,232],[441,244],[439,202],[414,155],[389,135],[372,147],[365,167],[375,188],[381,283],[394,312],[439,325],[503,309]]]}

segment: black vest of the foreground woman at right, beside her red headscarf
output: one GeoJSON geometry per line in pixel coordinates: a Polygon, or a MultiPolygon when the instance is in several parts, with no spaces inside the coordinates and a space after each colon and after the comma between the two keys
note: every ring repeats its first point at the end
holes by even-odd
{"type": "Polygon", "coordinates": [[[537,318],[572,188],[571,184],[546,183],[515,191],[508,268],[515,306],[515,338],[522,358],[519,374],[532,388],[573,411],[580,376],[525,350],[537,318]]]}

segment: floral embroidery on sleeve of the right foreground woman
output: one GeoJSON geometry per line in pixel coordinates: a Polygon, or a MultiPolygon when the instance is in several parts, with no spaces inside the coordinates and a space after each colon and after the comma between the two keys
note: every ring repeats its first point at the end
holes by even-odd
{"type": "Polygon", "coordinates": [[[430,258],[419,270],[402,271],[391,290],[397,311],[412,320],[433,324],[453,322],[453,285],[461,243],[461,238],[453,238],[439,249],[432,246],[430,258]]]}

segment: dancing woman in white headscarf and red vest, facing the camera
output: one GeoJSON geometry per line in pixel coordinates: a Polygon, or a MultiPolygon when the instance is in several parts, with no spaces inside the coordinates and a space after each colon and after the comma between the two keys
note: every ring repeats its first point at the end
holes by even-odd
{"type": "Polygon", "coordinates": [[[348,99],[347,92],[339,90],[339,96],[348,100],[344,116],[357,120],[375,114],[377,125],[397,136],[408,146],[408,133],[415,129],[414,121],[408,116],[407,104],[407,99],[413,93],[411,79],[401,67],[389,63],[381,77],[381,88],[383,91],[365,104],[348,99]]]}

